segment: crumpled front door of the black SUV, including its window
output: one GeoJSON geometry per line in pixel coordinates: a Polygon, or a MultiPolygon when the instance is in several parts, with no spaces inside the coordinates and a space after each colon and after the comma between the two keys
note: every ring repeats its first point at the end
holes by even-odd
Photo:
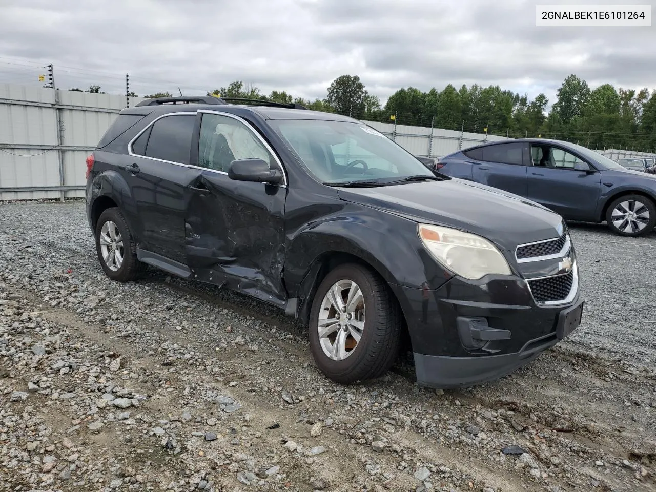
{"type": "MultiPolygon", "coordinates": [[[[186,190],[185,254],[192,277],[283,307],[286,184],[232,180],[230,163],[258,157],[282,170],[259,134],[234,115],[201,112],[197,165],[186,190]]],[[[284,173],[283,173],[284,174],[284,173]]]]}

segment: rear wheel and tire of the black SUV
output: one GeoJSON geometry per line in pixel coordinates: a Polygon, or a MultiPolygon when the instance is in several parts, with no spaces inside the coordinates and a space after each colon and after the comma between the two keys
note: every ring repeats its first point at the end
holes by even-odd
{"type": "Polygon", "coordinates": [[[147,268],[146,264],[136,258],[134,237],[127,226],[123,213],[117,207],[106,209],[98,218],[98,224],[96,224],[96,253],[98,253],[98,260],[100,260],[102,270],[112,280],[129,282],[140,276],[147,268]],[[108,261],[104,258],[105,253],[112,250],[112,230],[113,237],[118,239],[116,241],[116,251],[120,253],[122,258],[120,261],[116,255],[113,256],[113,260],[112,256],[108,257],[108,261]],[[106,238],[110,240],[107,241],[106,238]]]}

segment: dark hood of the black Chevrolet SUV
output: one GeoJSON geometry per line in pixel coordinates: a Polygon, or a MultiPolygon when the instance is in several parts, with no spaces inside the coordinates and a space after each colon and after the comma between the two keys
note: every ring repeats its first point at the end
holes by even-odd
{"type": "Polygon", "coordinates": [[[417,222],[472,232],[514,251],[520,244],[559,237],[560,215],[532,201],[482,184],[451,178],[376,188],[338,188],[344,201],[417,222]]]}

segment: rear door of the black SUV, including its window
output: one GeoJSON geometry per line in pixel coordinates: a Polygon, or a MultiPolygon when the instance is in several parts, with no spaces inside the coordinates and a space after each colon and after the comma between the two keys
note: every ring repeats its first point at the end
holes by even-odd
{"type": "Polygon", "coordinates": [[[197,171],[188,167],[196,113],[167,113],[129,145],[123,167],[142,224],[144,249],[184,263],[185,190],[197,171]]]}

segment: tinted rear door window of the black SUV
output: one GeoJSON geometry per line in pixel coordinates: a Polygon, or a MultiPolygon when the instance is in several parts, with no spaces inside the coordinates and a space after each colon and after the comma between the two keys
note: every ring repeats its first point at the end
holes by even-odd
{"type": "MultiPolygon", "coordinates": [[[[146,145],[146,157],[189,163],[195,115],[171,115],[155,121],[146,145]]],[[[136,142],[135,142],[136,143],[136,142]]]]}

